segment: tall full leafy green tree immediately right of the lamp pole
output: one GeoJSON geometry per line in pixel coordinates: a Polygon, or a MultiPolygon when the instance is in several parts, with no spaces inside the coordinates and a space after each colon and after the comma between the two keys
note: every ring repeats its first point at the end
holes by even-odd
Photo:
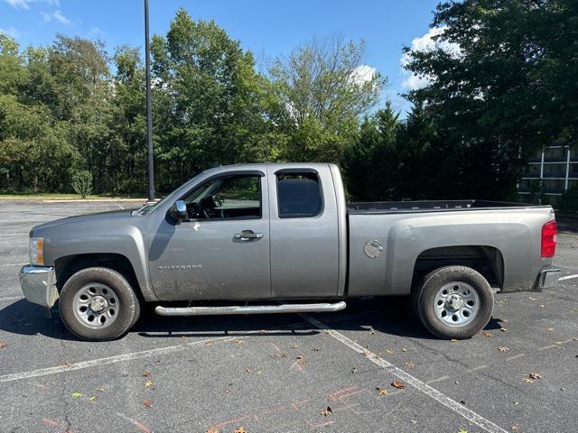
{"type": "Polygon", "coordinates": [[[160,170],[170,173],[164,188],[215,164],[243,161],[265,122],[252,53],[184,9],[166,37],[154,36],[152,52],[155,144],[160,170]]]}

